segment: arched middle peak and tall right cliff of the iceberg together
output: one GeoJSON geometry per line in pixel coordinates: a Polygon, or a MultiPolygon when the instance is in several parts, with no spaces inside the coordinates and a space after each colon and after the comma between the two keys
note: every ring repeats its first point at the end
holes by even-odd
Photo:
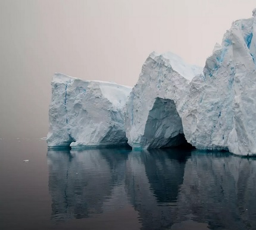
{"type": "Polygon", "coordinates": [[[198,149],[256,155],[255,14],[232,24],[203,71],[172,53],[149,55],[125,111],[133,148],[188,141],[198,149]]]}

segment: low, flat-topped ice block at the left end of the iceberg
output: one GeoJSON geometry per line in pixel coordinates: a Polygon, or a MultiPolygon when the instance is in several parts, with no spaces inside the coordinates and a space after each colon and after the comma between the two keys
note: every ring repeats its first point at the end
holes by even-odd
{"type": "Polygon", "coordinates": [[[131,87],[55,74],[49,106],[48,147],[127,143],[124,106],[131,87]]]}

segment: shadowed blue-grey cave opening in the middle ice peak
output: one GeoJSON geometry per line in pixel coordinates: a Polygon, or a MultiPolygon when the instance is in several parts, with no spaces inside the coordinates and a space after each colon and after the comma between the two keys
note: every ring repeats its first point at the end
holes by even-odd
{"type": "Polygon", "coordinates": [[[144,137],[146,149],[192,147],[183,134],[182,119],[171,99],[157,97],[148,114],[144,137]]]}

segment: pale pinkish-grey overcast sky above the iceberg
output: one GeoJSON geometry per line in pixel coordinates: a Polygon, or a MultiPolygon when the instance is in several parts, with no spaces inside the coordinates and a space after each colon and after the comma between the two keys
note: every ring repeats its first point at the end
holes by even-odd
{"type": "Polygon", "coordinates": [[[0,0],[0,138],[46,137],[51,78],[134,86],[152,51],[204,67],[255,0],[0,0]]]}

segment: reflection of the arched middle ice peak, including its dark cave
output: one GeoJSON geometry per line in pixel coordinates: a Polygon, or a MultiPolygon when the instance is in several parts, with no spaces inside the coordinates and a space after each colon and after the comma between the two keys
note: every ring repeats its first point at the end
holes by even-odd
{"type": "Polygon", "coordinates": [[[126,184],[130,202],[139,211],[143,229],[170,227],[176,200],[183,182],[189,152],[143,150],[129,156],[126,184]]]}

